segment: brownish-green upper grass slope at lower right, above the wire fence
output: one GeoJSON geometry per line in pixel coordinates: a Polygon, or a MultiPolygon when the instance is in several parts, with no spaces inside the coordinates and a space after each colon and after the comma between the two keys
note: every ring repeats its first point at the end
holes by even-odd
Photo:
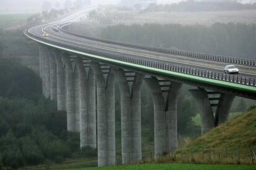
{"type": "Polygon", "coordinates": [[[212,129],[206,134],[192,140],[184,146],[184,150],[194,148],[194,152],[201,152],[201,148],[256,148],[256,109],[250,109],[242,115],[229,119],[226,123],[212,129]]]}

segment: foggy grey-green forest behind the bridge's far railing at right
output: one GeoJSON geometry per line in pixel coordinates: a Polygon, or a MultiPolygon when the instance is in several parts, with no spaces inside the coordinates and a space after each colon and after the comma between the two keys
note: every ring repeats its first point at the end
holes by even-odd
{"type": "Polygon", "coordinates": [[[116,25],[104,28],[101,38],[246,59],[256,54],[256,25],[241,23],[116,25]]]}

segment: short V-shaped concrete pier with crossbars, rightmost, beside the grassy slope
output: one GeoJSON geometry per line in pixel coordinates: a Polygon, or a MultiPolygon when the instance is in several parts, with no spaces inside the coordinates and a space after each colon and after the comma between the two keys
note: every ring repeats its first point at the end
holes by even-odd
{"type": "Polygon", "coordinates": [[[234,95],[226,92],[207,92],[205,89],[192,89],[189,90],[194,99],[196,100],[198,109],[200,110],[201,118],[201,132],[202,134],[210,131],[218,124],[224,123],[228,119],[229,110],[234,100],[234,95]],[[209,97],[209,94],[219,95],[218,97],[209,97]],[[210,101],[216,100],[218,103],[211,103],[210,101]],[[213,114],[212,107],[216,108],[216,113],[213,114]]]}

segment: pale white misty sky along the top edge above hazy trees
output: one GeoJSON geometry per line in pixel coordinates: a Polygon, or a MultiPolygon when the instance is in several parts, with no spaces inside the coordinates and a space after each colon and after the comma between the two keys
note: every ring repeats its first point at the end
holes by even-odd
{"type": "MultiPolygon", "coordinates": [[[[41,11],[45,0],[0,0],[0,14],[12,13],[36,13],[41,11]]],[[[48,0],[53,6],[56,2],[64,3],[65,0],[48,0]]],[[[74,0],[72,0],[74,1],[74,0]]],[[[119,0],[91,0],[93,5],[97,4],[118,4],[119,0]]],[[[129,0],[127,0],[129,1],[129,0]]],[[[149,0],[150,1],[150,0],[149,0]]],[[[171,4],[184,0],[157,0],[158,4],[171,4]]],[[[218,1],[218,0],[216,0],[218,1]]],[[[241,0],[242,2],[255,2],[256,0],[241,0]]]]}

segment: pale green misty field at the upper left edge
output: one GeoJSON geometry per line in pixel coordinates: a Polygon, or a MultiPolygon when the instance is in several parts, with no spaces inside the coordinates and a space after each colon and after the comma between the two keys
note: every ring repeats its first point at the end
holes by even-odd
{"type": "Polygon", "coordinates": [[[1,14],[0,28],[7,28],[15,25],[20,25],[27,22],[27,18],[32,14],[1,14]]]}

